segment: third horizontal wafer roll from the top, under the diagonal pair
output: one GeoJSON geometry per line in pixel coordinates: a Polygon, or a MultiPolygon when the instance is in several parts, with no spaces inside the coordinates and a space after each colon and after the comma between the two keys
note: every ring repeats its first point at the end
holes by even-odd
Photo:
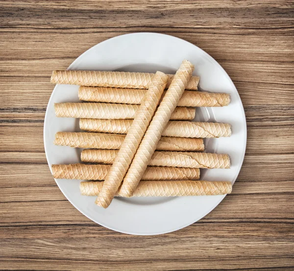
{"type": "MultiPolygon", "coordinates": [[[[94,103],[94,102],[65,102],[54,103],[56,117],[86,118],[86,119],[134,119],[140,105],[94,103]]],[[[193,120],[195,108],[176,107],[172,120],[193,120]]]]}

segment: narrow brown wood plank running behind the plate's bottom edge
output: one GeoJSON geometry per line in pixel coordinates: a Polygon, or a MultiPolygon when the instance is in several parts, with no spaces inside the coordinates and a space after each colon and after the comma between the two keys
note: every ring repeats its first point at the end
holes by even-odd
{"type": "MultiPolygon", "coordinates": [[[[259,239],[270,241],[274,238],[276,241],[283,241],[285,238],[293,240],[292,223],[279,223],[274,221],[268,222],[203,222],[200,220],[189,227],[185,227],[176,232],[166,234],[168,238],[185,238],[197,236],[208,238],[223,239],[226,236],[241,239],[259,239]]],[[[88,221],[77,224],[58,224],[50,222],[46,225],[8,225],[1,226],[0,239],[37,239],[54,236],[54,238],[93,238],[108,237],[116,238],[124,236],[132,240],[152,239],[150,236],[133,236],[123,233],[117,233],[113,230],[99,226],[95,222],[88,221]]],[[[164,240],[164,236],[157,236],[159,240],[164,240]]]]}

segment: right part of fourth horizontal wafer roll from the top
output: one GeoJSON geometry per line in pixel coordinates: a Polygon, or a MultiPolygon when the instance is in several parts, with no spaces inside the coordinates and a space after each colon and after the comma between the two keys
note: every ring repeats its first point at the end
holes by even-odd
{"type": "Polygon", "coordinates": [[[164,136],[175,137],[229,137],[231,125],[228,123],[169,122],[164,136]]]}

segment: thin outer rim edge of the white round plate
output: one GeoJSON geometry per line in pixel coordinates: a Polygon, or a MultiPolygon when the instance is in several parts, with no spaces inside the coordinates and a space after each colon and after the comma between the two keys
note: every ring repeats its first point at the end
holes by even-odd
{"type": "MultiPolygon", "coordinates": [[[[237,170],[237,173],[236,175],[234,176],[233,178],[233,181],[232,181],[232,184],[234,184],[234,182],[236,181],[240,171],[241,171],[241,168],[243,166],[243,162],[244,162],[244,158],[245,158],[245,151],[246,151],[246,146],[247,146],[247,123],[246,123],[246,117],[245,117],[245,110],[244,110],[244,106],[243,106],[243,102],[241,100],[241,97],[239,95],[239,92],[235,86],[235,84],[233,83],[232,79],[230,78],[230,76],[226,73],[226,71],[223,69],[223,67],[221,66],[221,64],[215,60],[210,54],[208,54],[207,52],[205,52],[203,49],[199,48],[198,46],[196,46],[195,44],[193,43],[190,43],[184,39],[181,39],[181,38],[178,38],[178,37],[175,37],[175,36],[172,36],[172,35],[168,35],[168,34],[163,34],[163,33],[156,33],[156,32],[134,32],[134,33],[127,33],[127,34],[122,34],[122,35],[118,35],[118,36],[115,36],[115,37],[112,37],[112,38],[109,38],[109,39],[106,39],[96,45],[94,45],[93,47],[87,49],[86,51],[84,51],[82,54],[80,54],[72,63],[71,65],[66,69],[66,70],[71,70],[72,66],[78,64],[79,61],[81,61],[81,58],[83,57],[84,54],[88,53],[89,51],[91,50],[94,50],[97,46],[99,46],[100,44],[102,43],[105,43],[105,42],[109,42],[110,40],[114,40],[114,39],[118,39],[118,38],[121,38],[122,36],[130,36],[130,35],[156,35],[156,36],[167,36],[167,37],[172,37],[172,38],[175,38],[175,39],[178,39],[182,42],[185,42],[187,44],[190,44],[194,47],[196,47],[197,49],[199,49],[204,55],[206,55],[208,57],[208,59],[212,62],[215,62],[217,64],[217,66],[221,69],[221,71],[223,72],[223,74],[225,75],[225,77],[229,80],[230,84],[234,87],[234,89],[236,90],[236,94],[237,94],[237,98],[238,98],[238,101],[240,102],[240,105],[241,105],[241,111],[242,111],[242,118],[243,118],[243,132],[244,132],[244,135],[245,135],[245,140],[244,140],[244,148],[243,148],[243,152],[242,152],[242,158],[241,158],[241,161],[240,161],[240,164],[238,166],[238,170],[237,170]]],[[[49,104],[50,104],[50,101],[51,99],[53,99],[53,93],[55,91],[57,87],[57,84],[54,86],[53,90],[52,90],[52,93],[50,95],[50,98],[48,100],[48,104],[47,104],[47,107],[46,107],[46,113],[45,113],[45,118],[44,118],[44,128],[43,128],[43,140],[44,140],[44,148],[45,148],[45,155],[46,155],[46,159],[47,159],[47,163],[49,165],[49,170],[52,174],[52,169],[50,167],[50,164],[49,164],[49,159],[48,159],[48,154],[47,154],[47,147],[46,147],[46,139],[45,139],[45,133],[46,133],[46,128],[47,128],[47,123],[48,123],[48,111],[49,111],[49,104]]],[[[101,225],[103,227],[106,227],[108,229],[111,229],[111,230],[114,230],[114,231],[117,231],[117,232],[121,232],[121,233],[125,233],[125,234],[131,234],[131,235],[141,235],[141,236],[150,236],[150,235],[159,235],[159,234],[165,234],[165,233],[169,233],[169,232],[174,232],[174,231],[177,231],[179,229],[182,229],[182,228],[185,228],[197,221],[199,221],[200,219],[202,219],[203,217],[205,217],[206,215],[208,215],[212,210],[214,210],[220,203],[221,201],[223,200],[223,198],[226,196],[226,195],[222,195],[220,197],[220,200],[216,201],[216,204],[213,205],[213,207],[211,207],[208,211],[205,212],[205,215],[201,216],[200,218],[198,218],[197,220],[193,219],[192,221],[189,221],[187,223],[184,223],[180,226],[177,226],[176,228],[172,229],[172,230],[166,230],[166,231],[160,231],[160,232],[156,232],[156,233],[149,233],[149,232],[141,232],[141,233],[137,233],[137,232],[132,232],[132,231],[124,231],[124,230],[119,230],[113,226],[109,226],[107,225],[106,223],[101,223],[101,222],[96,222],[94,221],[90,215],[86,215],[85,213],[83,213],[80,208],[77,206],[77,204],[75,204],[71,199],[69,199],[67,196],[66,196],[66,193],[64,193],[63,191],[63,188],[61,188],[58,184],[58,182],[56,181],[56,179],[54,178],[57,186],[59,187],[59,189],[61,190],[62,194],[67,198],[67,200],[69,200],[69,202],[73,205],[74,208],[76,208],[81,214],[83,214],[85,217],[87,217],[88,219],[90,219],[91,221],[97,223],[98,225],[101,225]]]]}

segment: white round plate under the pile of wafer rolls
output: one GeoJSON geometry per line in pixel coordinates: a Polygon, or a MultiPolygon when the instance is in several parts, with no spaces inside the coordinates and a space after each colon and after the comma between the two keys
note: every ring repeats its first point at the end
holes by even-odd
{"type": "MultiPolygon", "coordinates": [[[[231,103],[225,107],[197,108],[197,121],[230,123],[232,136],[205,140],[206,152],[228,153],[230,169],[201,170],[202,180],[236,180],[245,155],[246,121],[243,105],[232,80],[217,61],[195,45],[158,33],[133,33],[118,36],[80,55],[69,70],[123,72],[161,71],[175,73],[183,59],[195,65],[201,90],[226,92],[231,103]]],[[[49,99],[45,123],[44,145],[49,167],[52,164],[80,162],[80,149],[54,146],[58,131],[79,131],[78,120],[55,117],[55,102],[78,102],[78,86],[56,85],[49,99]]],[[[107,228],[129,234],[154,235],[186,227],[212,211],[225,196],[201,197],[116,197],[107,209],[95,205],[95,197],[81,196],[80,180],[55,179],[73,206],[89,219],[107,228]]]]}

